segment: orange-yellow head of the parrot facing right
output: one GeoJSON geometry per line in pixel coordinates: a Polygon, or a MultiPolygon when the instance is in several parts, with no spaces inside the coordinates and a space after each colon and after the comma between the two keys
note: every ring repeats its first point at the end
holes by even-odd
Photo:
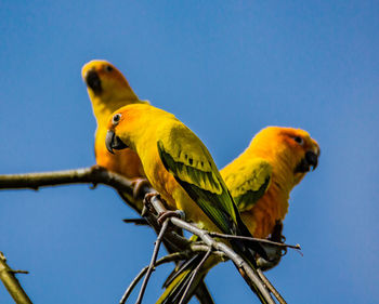
{"type": "Polygon", "coordinates": [[[283,127],[261,130],[252,138],[249,150],[253,157],[270,159],[275,171],[293,174],[295,185],[300,183],[311,167],[316,169],[321,153],[317,142],[306,131],[283,127]]]}

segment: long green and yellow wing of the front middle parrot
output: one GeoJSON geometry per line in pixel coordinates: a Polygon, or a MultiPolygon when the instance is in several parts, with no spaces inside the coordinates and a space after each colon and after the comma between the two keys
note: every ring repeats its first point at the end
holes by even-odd
{"type": "MultiPolygon", "coordinates": [[[[157,148],[166,170],[222,233],[251,237],[208,149],[188,128],[184,124],[178,128],[171,125],[166,136],[158,141],[157,148]]],[[[247,243],[246,247],[236,243],[232,247],[238,247],[238,252],[248,255],[246,257],[250,261],[253,257],[246,252],[246,247],[266,257],[258,243],[247,243]]]]}

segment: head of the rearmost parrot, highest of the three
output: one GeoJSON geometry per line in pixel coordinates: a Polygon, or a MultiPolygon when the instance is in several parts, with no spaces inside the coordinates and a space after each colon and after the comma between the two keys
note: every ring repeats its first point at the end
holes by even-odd
{"type": "Polygon", "coordinates": [[[123,75],[106,61],[91,61],[83,65],[81,77],[90,96],[103,100],[136,98],[123,75]]]}

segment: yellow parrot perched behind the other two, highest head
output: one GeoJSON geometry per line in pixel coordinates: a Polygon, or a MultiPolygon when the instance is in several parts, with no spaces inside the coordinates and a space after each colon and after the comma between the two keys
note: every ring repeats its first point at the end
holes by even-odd
{"type": "MultiPolygon", "coordinates": [[[[146,104],[148,102],[141,101],[130,88],[123,75],[106,61],[87,63],[81,69],[81,76],[87,84],[87,91],[97,122],[94,144],[96,163],[127,179],[135,182],[141,181],[140,179],[144,177],[145,174],[139,156],[131,149],[110,154],[105,147],[105,135],[108,117],[116,109],[129,104],[146,104]]],[[[128,194],[120,195],[141,212],[141,202],[134,200],[128,194]]]]}

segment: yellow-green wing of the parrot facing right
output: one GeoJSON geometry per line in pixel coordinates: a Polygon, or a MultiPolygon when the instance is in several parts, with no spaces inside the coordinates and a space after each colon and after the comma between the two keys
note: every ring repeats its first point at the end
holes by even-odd
{"type": "Polygon", "coordinates": [[[238,210],[251,209],[265,194],[271,183],[272,166],[262,158],[251,159],[223,174],[238,210]]]}

